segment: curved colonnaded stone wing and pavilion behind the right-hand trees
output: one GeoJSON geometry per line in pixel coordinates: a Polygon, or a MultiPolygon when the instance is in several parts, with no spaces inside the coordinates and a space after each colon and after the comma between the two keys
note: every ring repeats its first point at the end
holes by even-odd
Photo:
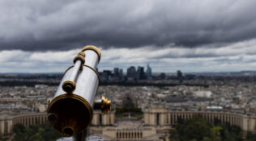
{"type": "Polygon", "coordinates": [[[243,131],[256,131],[256,116],[250,114],[238,114],[220,110],[209,111],[178,111],[164,108],[164,106],[153,106],[144,110],[144,125],[148,126],[172,126],[181,118],[185,121],[194,116],[201,117],[207,122],[214,124],[215,121],[228,122],[231,125],[241,126],[243,131]]]}

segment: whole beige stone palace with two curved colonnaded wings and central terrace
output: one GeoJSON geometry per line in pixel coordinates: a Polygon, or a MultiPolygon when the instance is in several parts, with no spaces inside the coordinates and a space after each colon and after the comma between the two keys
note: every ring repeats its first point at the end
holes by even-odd
{"type": "MultiPolygon", "coordinates": [[[[169,130],[177,123],[178,118],[188,120],[194,116],[204,118],[207,122],[228,122],[231,125],[241,126],[243,131],[256,131],[256,116],[238,114],[220,110],[211,111],[179,111],[171,110],[164,105],[154,105],[143,110],[143,119],[115,118],[115,111],[101,115],[94,111],[89,129],[90,135],[97,135],[105,140],[168,140],[169,130]]],[[[46,121],[46,113],[30,114],[0,114],[0,135],[11,135],[15,123],[30,126],[46,121]]]]}

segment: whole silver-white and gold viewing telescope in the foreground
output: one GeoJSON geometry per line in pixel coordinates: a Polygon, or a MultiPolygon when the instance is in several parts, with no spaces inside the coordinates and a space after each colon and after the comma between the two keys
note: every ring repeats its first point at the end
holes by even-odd
{"type": "Polygon", "coordinates": [[[110,102],[102,97],[95,101],[99,85],[96,66],[100,50],[86,46],[74,58],[74,65],[66,69],[53,100],[49,102],[48,120],[64,136],[79,135],[92,122],[93,109],[105,114],[110,102]]]}

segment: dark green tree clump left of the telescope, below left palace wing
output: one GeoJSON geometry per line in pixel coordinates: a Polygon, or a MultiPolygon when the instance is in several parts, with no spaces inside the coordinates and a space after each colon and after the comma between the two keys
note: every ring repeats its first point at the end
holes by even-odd
{"type": "Polygon", "coordinates": [[[53,129],[49,122],[36,124],[26,128],[23,124],[17,123],[13,128],[15,133],[12,141],[56,141],[62,134],[53,129]]]}

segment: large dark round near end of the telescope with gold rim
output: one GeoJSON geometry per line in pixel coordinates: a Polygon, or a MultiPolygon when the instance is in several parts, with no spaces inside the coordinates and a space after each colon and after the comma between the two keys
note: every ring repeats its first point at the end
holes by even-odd
{"type": "Polygon", "coordinates": [[[58,115],[58,121],[51,124],[65,136],[83,131],[92,122],[93,116],[90,103],[75,93],[63,93],[55,97],[49,103],[47,113],[58,115]]]}

